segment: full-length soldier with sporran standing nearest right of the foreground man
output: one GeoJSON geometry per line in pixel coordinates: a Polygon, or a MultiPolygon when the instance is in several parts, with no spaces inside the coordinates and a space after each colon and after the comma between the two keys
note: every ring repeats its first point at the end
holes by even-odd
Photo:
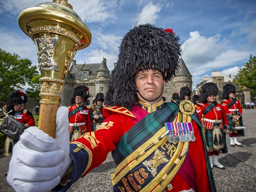
{"type": "Polygon", "coordinates": [[[224,148],[224,136],[228,129],[228,120],[221,102],[215,96],[219,90],[216,84],[206,83],[202,86],[196,112],[205,130],[206,144],[211,167],[225,169],[219,162],[220,149],[224,148]]]}

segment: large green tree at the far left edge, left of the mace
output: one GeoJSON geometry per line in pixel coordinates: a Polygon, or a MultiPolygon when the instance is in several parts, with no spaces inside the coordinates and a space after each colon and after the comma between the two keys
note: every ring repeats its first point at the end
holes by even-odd
{"type": "Polygon", "coordinates": [[[22,89],[36,75],[38,71],[30,60],[0,49],[0,101],[6,101],[10,92],[22,89]]]}

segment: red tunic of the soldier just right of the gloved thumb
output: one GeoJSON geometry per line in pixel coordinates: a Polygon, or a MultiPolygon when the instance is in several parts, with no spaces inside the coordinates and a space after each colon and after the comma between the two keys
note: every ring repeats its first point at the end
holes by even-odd
{"type": "MultiPolygon", "coordinates": [[[[71,111],[78,107],[79,106],[77,106],[76,104],[70,106],[68,114],[70,114],[71,111]]],[[[69,117],[69,132],[73,131],[72,127],[79,127],[80,133],[92,131],[91,116],[88,107],[85,106],[84,109],[76,112],[76,114],[69,117]]]]}

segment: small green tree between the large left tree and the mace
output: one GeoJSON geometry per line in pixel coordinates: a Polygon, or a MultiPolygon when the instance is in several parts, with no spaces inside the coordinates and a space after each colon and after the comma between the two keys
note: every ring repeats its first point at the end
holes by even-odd
{"type": "Polygon", "coordinates": [[[26,93],[28,95],[28,97],[30,97],[33,100],[39,100],[39,93],[40,93],[40,83],[39,83],[39,78],[41,76],[40,75],[36,75],[34,77],[32,77],[31,82],[28,83],[28,85],[30,86],[26,93]]]}

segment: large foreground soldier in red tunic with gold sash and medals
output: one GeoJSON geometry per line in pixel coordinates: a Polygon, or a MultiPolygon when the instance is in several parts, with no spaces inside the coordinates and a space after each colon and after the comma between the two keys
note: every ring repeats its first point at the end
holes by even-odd
{"type": "Polygon", "coordinates": [[[55,140],[38,130],[42,145],[33,154],[25,147],[26,160],[19,154],[21,142],[31,146],[34,140],[22,135],[10,162],[8,182],[16,191],[35,191],[38,186],[45,191],[55,186],[52,191],[66,191],[112,151],[117,164],[111,175],[114,191],[216,191],[194,104],[162,100],[165,82],[175,74],[179,56],[179,38],[171,29],[150,24],[131,29],[110,76],[105,100],[111,107],[104,108],[106,119],[99,129],[65,144],[65,125],[59,123],[66,112],[61,115],[59,111],[65,109],[60,108],[55,140]],[[44,138],[52,144],[44,146],[44,138]],[[56,153],[55,162],[34,161],[47,156],[43,151],[50,147],[56,153]],[[17,158],[25,161],[22,166],[17,158]],[[20,173],[25,169],[30,171],[26,178],[20,173]]]}

